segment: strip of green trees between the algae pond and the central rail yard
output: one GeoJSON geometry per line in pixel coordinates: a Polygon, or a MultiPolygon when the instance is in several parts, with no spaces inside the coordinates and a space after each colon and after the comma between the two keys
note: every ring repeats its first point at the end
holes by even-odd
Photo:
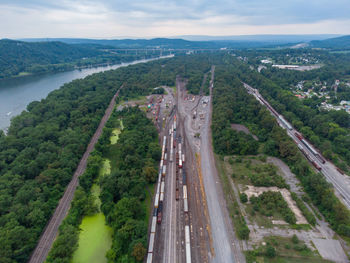
{"type": "Polygon", "coordinates": [[[147,253],[147,185],[157,178],[161,155],[158,132],[138,108],[125,108],[116,118],[122,120],[124,129],[118,142],[106,150],[111,174],[100,180],[101,210],[113,230],[107,258],[109,262],[142,262],[147,253]]]}

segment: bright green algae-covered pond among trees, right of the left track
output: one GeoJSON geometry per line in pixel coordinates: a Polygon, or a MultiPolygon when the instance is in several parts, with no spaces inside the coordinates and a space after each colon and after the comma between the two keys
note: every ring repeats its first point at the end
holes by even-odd
{"type": "MultiPolygon", "coordinates": [[[[108,159],[103,163],[100,176],[111,172],[108,159]]],[[[91,188],[96,197],[96,204],[101,205],[100,187],[94,184],[91,188]]],[[[99,212],[92,216],[85,216],[80,224],[78,249],[74,252],[72,263],[105,263],[106,253],[112,245],[112,229],[105,224],[105,216],[99,212]]]]}

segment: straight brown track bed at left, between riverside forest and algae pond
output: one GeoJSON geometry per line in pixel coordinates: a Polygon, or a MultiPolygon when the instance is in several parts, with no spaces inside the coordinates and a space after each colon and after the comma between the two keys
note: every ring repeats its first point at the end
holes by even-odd
{"type": "MultiPolygon", "coordinates": [[[[120,90],[120,89],[119,89],[120,90]]],[[[72,180],[70,181],[70,183],[68,184],[68,187],[66,188],[66,191],[63,194],[63,197],[61,198],[61,200],[58,203],[58,206],[56,207],[56,210],[54,212],[54,214],[52,215],[49,223],[46,225],[46,228],[44,230],[44,232],[42,233],[40,240],[35,248],[35,250],[33,251],[30,259],[29,259],[29,263],[42,263],[45,261],[51,246],[56,238],[57,232],[58,232],[58,227],[60,226],[60,224],[62,223],[63,219],[66,217],[69,208],[70,208],[70,203],[74,197],[74,192],[75,189],[78,186],[79,183],[79,176],[82,175],[85,171],[86,168],[86,164],[87,164],[87,159],[90,155],[90,153],[92,152],[92,150],[95,147],[96,142],[98,141],[101,133],[102,133],[102,129],[105,126],[107,120],[109,119],[109,117],[111,116],[111,113],[113,111],[114,105],[115,105],[115,99],[119,94],[119,90],[118,92],[114,95],[113,99],[111,100],[105,115],[103,116],[100,125],[98,126],[94,136],[92,137],[86,152],[84,153],[82,159],[80,160],[80,163],[77,167],[77,170],[75,171],[72,180]]]]}

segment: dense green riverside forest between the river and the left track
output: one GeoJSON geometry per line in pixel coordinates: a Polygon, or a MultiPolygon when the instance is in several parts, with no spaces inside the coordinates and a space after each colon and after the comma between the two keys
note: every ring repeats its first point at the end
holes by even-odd
{"type": "MultiPolygon", "coordinates": [[[[26,262],[119,87],[149,94],[175,79],[172,60],[91,75],[32,102],[0,136],[0,258],[26,262]],[[146,76],[168,69],[164,77],[146,76]],[[133,77],[137,76],[137,77],[133,77]],[[19,238],[20,237],[20,238],[19,238]]],[[[130,97],[123,91],[123,97],[130,97]]]]}

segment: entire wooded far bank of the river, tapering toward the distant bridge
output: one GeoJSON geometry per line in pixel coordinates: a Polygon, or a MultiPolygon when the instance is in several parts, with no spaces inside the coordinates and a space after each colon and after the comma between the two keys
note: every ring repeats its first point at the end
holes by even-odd
{"type": "Polygon", "coordinates": [[[154,52],[118,52],[105,46],[70,45],[62,42],[0,40],[0,79],[117,64],[159,56],[154,52]]]}

